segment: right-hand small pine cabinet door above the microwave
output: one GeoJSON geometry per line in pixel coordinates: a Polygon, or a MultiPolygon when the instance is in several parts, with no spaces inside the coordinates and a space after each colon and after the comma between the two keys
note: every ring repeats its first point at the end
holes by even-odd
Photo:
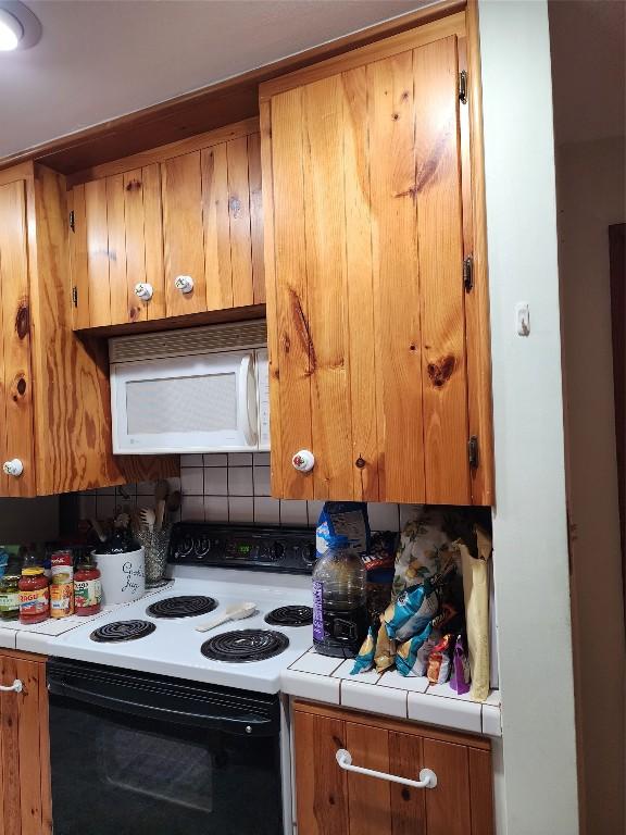
{"type": "Polygon", "coordinates": [[[259,134],[162,163],[168,316],[265,300],[259,134]],[[176,278],[190,276],[181,292],[176,278]]]}

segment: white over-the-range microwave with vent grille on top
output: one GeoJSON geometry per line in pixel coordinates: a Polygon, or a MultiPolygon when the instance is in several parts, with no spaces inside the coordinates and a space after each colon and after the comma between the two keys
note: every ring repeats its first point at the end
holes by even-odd
{"type": "Polygon", "coordinates": [[[263,320],[109,340],[113,452],[270,449],[263,320]]]}

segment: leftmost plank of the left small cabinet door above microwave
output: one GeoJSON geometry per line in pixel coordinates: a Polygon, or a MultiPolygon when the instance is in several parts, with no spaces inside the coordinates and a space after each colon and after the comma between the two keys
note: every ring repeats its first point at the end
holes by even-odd
{"type": "Polygon", "coordinates": [[[109,232],[107,182],[85,184],[85,228],[87,236],[87,279],[89,282],[89,325],[111,324],[109,289],[109,232]]]}

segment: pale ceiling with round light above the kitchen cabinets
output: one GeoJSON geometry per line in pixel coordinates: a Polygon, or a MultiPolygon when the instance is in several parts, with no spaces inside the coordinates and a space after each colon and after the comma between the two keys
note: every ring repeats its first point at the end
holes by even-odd
{"type": "Polygon", "coordinates": [[[431,0],[37,0],[0,52],[0,158],[300,52],[431,0]]]}

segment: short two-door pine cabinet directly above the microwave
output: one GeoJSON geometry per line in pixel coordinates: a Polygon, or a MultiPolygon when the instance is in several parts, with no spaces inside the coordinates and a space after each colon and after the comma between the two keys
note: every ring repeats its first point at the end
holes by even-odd
{"type": "Polygon", "coordinates": [[[74,185],[74,327],[262,303],[260,154],[258,122],[247,120],[108,163],[74,185]],[[152,298],[138,298],[137,284],[152,298]]]}

